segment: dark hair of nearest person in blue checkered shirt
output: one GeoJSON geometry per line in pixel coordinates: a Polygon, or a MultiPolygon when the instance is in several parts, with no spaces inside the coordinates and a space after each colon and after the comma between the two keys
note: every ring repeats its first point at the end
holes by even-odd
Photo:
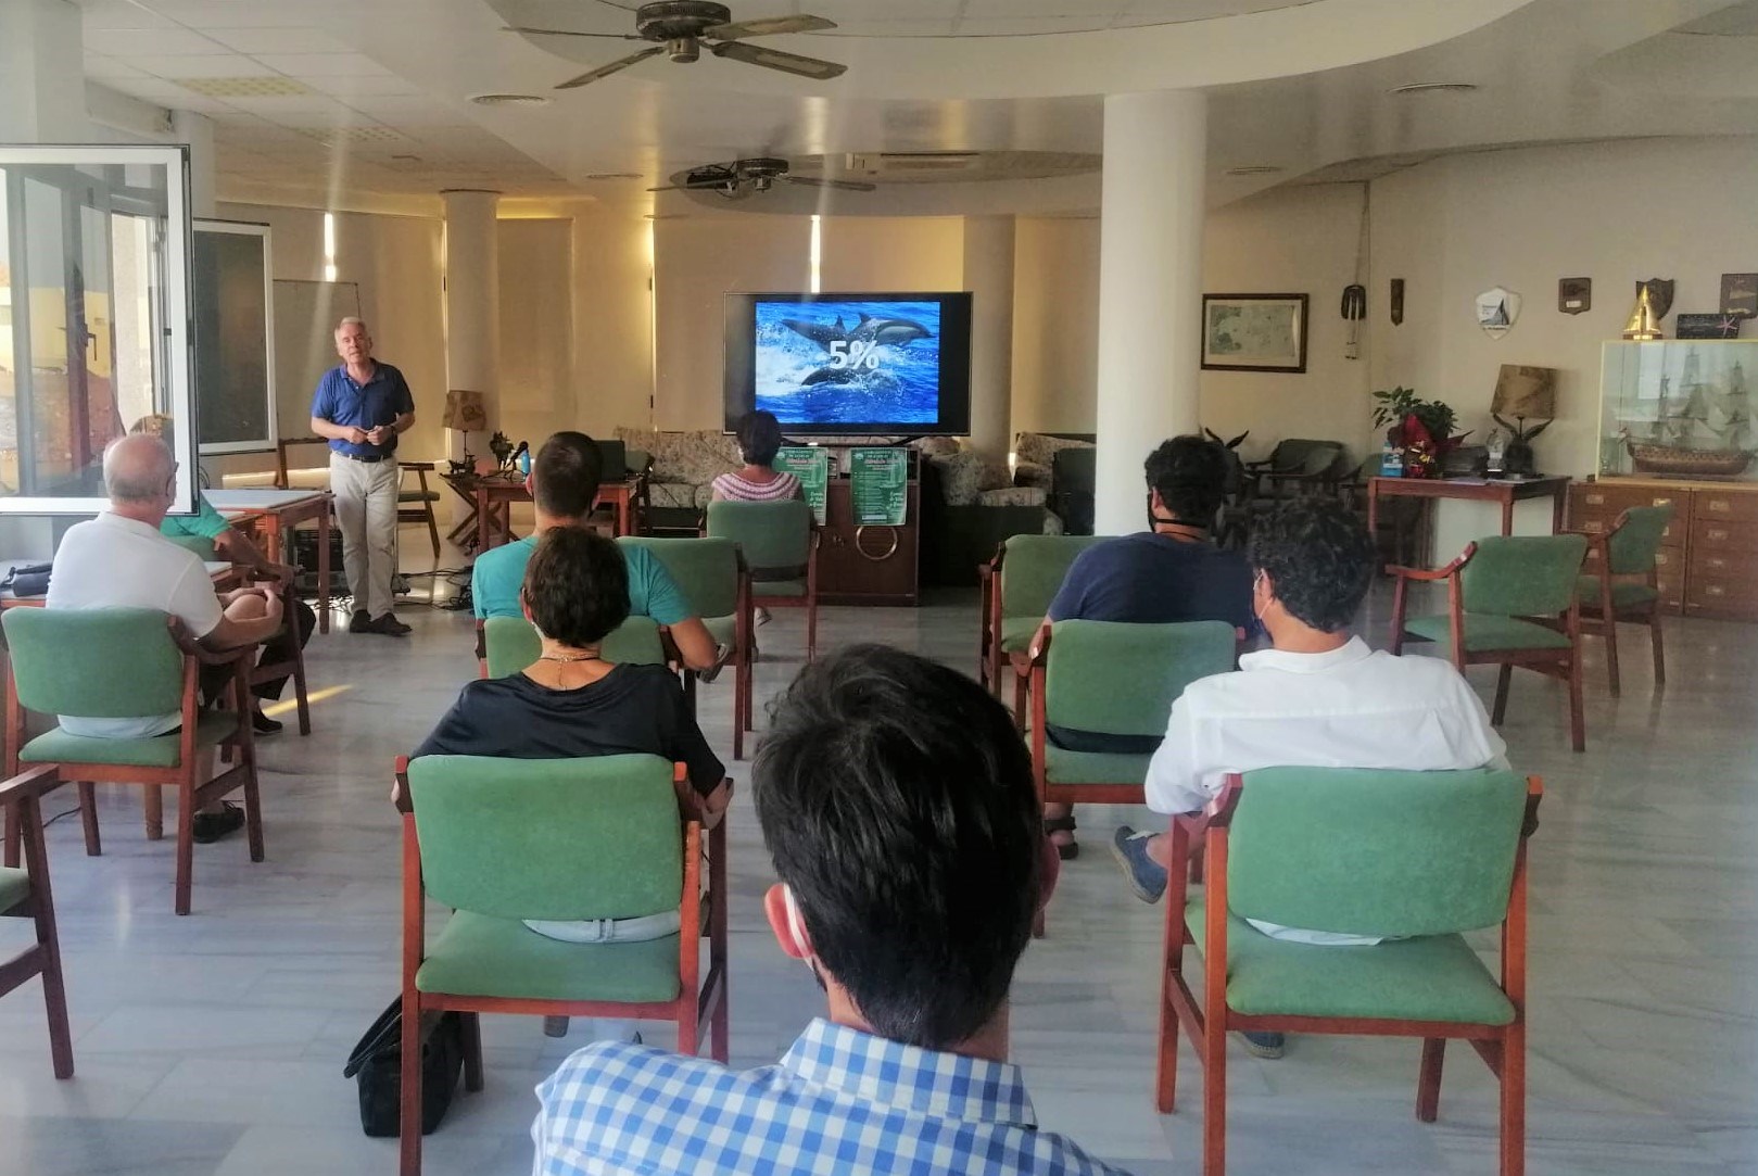
{"type": "Polygon", "coordinates": [[[819,963],[881,1037],[946,1049],[995,1016],[1044,886],[1032,761],[974,680],[888,645],[819,657],[751,768],[819,963]]]}

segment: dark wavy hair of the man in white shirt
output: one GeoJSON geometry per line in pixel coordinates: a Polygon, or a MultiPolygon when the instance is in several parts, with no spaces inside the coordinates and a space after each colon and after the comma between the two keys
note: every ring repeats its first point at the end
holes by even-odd
{"type": "Polygon", "coordinates": [[[1252,527],[1246,559],[1289,615],[1322,633],[1348,628],[1380,563],[1361,515],[1329,497],[1275,510],[1252,527]]]}

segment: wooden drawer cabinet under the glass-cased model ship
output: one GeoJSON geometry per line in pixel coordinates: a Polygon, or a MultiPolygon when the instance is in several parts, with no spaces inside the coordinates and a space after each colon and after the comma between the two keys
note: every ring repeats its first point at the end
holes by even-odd
{"type": "MultiPolygon", "coordinates": [[[[1758,485],[1602,478],[1570,489],[1568,526],[1607,531],[1630,506],[1672,503],[1656,575],[1661,606],[1758,621],[1758,485]]],[[[1587,571],[1596,571],[1589,552],[1587,571]]]]}

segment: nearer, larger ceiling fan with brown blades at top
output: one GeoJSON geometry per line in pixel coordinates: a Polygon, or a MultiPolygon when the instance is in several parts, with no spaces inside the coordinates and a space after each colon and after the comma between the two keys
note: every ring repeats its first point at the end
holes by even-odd
{"type": "Polygon", "coordinates": [[[744,62],[745,65],[761,65],[763,69],[796,74],[798,77],[812,77],[814,81],[830,81],[832,77],[839,77],[849,67],[839,65],[837,62],[800,56],[798,53],[751,46],[745,44],[745,40],[751,37],[774,37],[777,33],[810,33],[835,26],[835,21],[807,14],[735,23],[731,9],[724,4],[707,4],[705,0],[659,0],[657,4],[643,4],[635,9],[636,32],[633,33],[582,33],[571,28],[524,26],[508,26],[506,32],[533,37],[598,37],[605,40],[656,42],[650,49],[631,53],[626,58],[619,58],[608,65],[599,65],[594,70],[587,70],[578,77],[570,77],[556,86],[557,90],[573,90],[577,86],[594,83],[599,77],[610,77],[615,72],[626,70],[628,67],[661,53],[670,54],[673,62],[696,62],[701,58],[703,46],[707,46],[708,53],[717,58],[744,62]]]}

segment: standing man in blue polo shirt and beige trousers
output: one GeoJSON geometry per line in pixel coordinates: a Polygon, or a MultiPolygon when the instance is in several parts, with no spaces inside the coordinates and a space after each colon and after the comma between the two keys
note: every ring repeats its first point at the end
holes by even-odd
{"type": "Polygon", "coordinates": [[[415,424],[415,397],[403,373],[373,359],[359,318],[336,327],[341,364],[318,380],[311,431],[331,443],[331,494],[341,527],[341,563],[353,592],[350,633],[403,636],[410,626],[390,610],[397,575],[397,434],[415,424]]]}

